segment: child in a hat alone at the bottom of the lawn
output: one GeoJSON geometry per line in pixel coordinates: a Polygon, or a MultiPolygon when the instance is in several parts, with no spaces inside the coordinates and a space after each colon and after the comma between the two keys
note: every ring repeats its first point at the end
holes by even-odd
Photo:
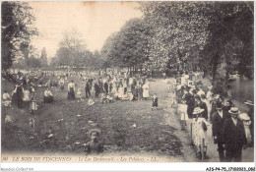
{"type": "Polygon", "coordinates": [[[85,152],[87,154],[99,154],[103,152],[103,143],[98,141],[100,131],[97,129],[93,129],[89,132],[89,136],[92,141],[89,143],[85,143],[85,152]]]}

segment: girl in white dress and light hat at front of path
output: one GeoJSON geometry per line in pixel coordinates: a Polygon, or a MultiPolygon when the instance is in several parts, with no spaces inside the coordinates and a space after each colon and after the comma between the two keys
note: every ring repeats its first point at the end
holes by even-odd
{"type": "Polygon", "coordinates": [[[203,117],[203,112],[205,110],[201,109],[200,107],[196,107],[193,111],[194,118],[194,143],[197,146],[197,157],[199,159],[202,158],[202,151],[204,152],[204,156],[206,157],[207,152],[207,126],[210,126],[210,123],[206,121],[206,119],[203,117]],[[204,149],[201,149],[202,141],[205,140],[205,146],[204,149]]]}

